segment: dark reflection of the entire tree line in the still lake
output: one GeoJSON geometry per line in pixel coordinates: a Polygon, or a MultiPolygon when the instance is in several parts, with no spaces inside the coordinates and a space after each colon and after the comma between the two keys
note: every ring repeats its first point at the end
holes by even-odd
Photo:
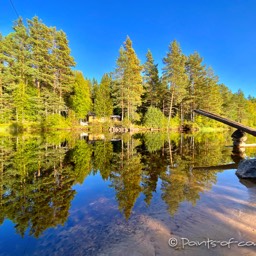
{"type": "MultiPolygon", "coordinates": [[[[195,205],[230,163],[228,135],[120,135],[120,140],[86,141],[79,135],[20,136],[0,140],[0,225],[15,224],[18,234],[34,237],[69,216],[75,184],[100,173],[115,190],[120,212],[129,218],[138,197],[150,205],[157,184],[169,213],[184,201],[195,205]]],[[[247,154],[250,154],[248,152],[247,154]]]]}

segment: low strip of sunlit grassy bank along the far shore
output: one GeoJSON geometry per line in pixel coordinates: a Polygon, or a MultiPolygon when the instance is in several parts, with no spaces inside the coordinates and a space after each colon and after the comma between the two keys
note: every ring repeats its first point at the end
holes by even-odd
{"type": "Polygon", "coordinates": [[[162,125],[149,125],[149,124],[134,124],[128,120],[123,121],[94,121],[87,126],[82,126],[77,119],[64,118],[60,115],[51,115],[42,122],[10,122],[0,125],[0,134],[16,134],[16,133],[41,133],[41,132],[54,132],[54,131],[85,131],[90,133],[107,133],[112,132],[146,132],[146,131],[176,131],[176,132],[215,132],[228,130],[229,127],[211,123],[211,125],[204,126],[202,123],[184,122],[182,125],[179,120],[173,119],[168,125],[167,122],[162,125]]]}

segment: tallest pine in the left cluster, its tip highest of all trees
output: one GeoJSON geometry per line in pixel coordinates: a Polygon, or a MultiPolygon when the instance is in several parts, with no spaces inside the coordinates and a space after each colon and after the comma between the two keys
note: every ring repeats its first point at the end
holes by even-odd
{"type": "Polygon", "coordinates": [[[56,97],[53,93],[54,71],[51,53],[53,49],[53,28],[47,27],[38,17],[28,20],[31,45],[32,84],[37,89],[34,97],[38,120],[50,113],[56,113],[56,97]]]}

